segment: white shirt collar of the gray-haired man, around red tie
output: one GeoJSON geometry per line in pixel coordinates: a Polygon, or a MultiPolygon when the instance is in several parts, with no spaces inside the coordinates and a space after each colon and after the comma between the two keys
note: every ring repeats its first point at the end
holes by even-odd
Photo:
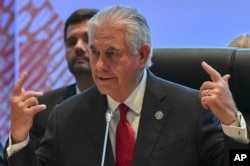
{"type": "MultiPolygon", "coordinates": [[[[134,91],[129,95],[129,97],[124,101],[131,110],[140,114],[142,108],[143,97],[146,89],[146,80],[147,80],[147,71],[146,69],[143,72],[142,79],[134,91]]],[[[108,107],[112,112],[115,112],[119,102],[113,100],[110,96],[107,95],[108,107]]]]}

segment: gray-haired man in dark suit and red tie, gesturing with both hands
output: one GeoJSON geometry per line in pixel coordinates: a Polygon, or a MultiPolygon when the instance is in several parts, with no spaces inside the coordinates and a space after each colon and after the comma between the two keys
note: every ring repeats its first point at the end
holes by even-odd
{"type": "MultiPolygon", "coordinates": [[[[216,117],[202,107],[199,91],[148,70],[151,35],[146,19],[136,9],[112,6],[99,11],[89,20],[88,34],[96,86],[55,107],[36,152],[28,132],[32,117],[46,108],[37,103],[42,93],[22,90],[26,73],[15,85],[5,156],[8,166],[224,164],[227,136],[221,122],[233,122],[235,112],[222,109],[225,118],[216,117]],[[106,121],[110,122],[108,130],[106,121]],[[107,145],[104,152],[103,145],[107,145]]],[[[248,137],[241,137],[241,143],[232,143],[248,146],[248,137]]]]}

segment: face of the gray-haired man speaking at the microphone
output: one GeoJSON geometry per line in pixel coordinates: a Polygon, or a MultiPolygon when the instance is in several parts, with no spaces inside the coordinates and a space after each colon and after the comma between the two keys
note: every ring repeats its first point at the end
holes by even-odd
{"type": "Polygon", "coordinates": [[[98,27],[89,41],[95,84],[101,93],[118,102],[125,100],[135,89],[146,64],[144,56],[131,52],[122,29],[98,27]]]}

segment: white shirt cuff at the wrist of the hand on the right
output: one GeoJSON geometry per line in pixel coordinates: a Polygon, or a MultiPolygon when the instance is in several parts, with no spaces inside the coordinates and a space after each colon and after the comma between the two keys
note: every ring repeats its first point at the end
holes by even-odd
{"type": "Polygon", "coordinates": [[[237,116],[240,117],[240,127],[225,125],[221,123],[222,129],[224,133],[234,139],[239,143],[248,144],[249,143],[249,135],[246,126],[246,121],[242,116],[242,113],[238,111],[237,116]]]}

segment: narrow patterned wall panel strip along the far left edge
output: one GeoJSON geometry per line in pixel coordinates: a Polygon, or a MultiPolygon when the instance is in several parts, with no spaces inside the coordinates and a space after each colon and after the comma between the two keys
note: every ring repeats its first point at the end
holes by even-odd
{"type": "Polygon", "coordinates": [[[9,98],[14,84],[14,1],[3,2],[0,9],[0,139],[4,143],[10,127],[9,98]]]}

